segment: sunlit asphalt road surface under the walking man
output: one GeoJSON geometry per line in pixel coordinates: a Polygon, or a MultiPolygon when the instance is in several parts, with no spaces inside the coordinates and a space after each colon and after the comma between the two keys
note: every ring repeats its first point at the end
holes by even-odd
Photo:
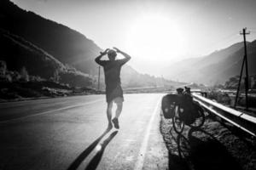
{"type": "Polygon", "coordinates": [[[166,169],[163,94],[125,94],[120,129],[107,129],[104,95],[0,105],[0,169],[166,169]]]}

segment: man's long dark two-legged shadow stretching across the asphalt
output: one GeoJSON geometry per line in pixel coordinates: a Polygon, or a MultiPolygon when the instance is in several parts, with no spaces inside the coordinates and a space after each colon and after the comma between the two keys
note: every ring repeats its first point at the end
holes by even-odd
{"type": "MultiPolygon", "coordinates": [[[[76,170],[79,165],[84,161],[84,159],[89,156],[90,152],[92,150],[94,150],[96,148],[96,145],[101,141],[101,139],[111,130],[111,128],[107,128],[104,133],[102,133],[102,135],[97,138],[92,144],[90,144],[90,146],[88,146],[76,159],[75,161],[73,161],[73,163],[67,168],[67,170],[76,170]]],[[[108,139],[104,140],[103,144],[102,144],[102,150],[104,151],[105,147],[107,146],[107,144],[110,142],[111,139],[113,139],[113,137],[118,133],[118,131],[115,131],[113,133],[111,133],[108,137],[108,139]]],[[[100,150],[99,152],[102,152],[102,150],[100,150]]],[[[98,152],[98,153],[99,153],[98,152]]],[[[98,155],[98,153],[96,154],[96,156],[98,155]]],[[[103,152],[102,152],[103,154],[103,152]]],[[[95,156],[95,157],[96,157],[95,156]]],[[[100,160],[99,160],[100,161],[100,160]]],[[[90,161],[91,162],[91,161],[90,161]]],[[[90,164],[89,164],[90,165],[90,164]]],[[[86,168],[87,169],[87,168],[86,168]]]]}

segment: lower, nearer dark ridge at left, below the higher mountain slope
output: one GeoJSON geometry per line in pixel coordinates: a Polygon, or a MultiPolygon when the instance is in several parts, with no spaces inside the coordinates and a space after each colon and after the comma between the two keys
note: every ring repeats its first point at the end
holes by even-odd
{"type": "Polygon", "coordinates": [[[24,38],[0,29],[0,60],[7,70],[20,72],[26,69],[30,76],[55,79],[71,86],[91,85],[91,78],[75,68],[63,65],[58,59],[24,38]]]}

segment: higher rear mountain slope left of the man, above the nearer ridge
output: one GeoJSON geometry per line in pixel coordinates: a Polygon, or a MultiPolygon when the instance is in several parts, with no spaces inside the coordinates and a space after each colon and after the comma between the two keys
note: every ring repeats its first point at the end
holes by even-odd
{"type": "Polygon", "coordinates": [[[32,42],[63,64],[72,65],[84,73],[96,74],[97,67],[93,61],[102,49],[83,34],[27,12],[9,0],[1,0],[0,16],[4,30],[32,42]]]}

